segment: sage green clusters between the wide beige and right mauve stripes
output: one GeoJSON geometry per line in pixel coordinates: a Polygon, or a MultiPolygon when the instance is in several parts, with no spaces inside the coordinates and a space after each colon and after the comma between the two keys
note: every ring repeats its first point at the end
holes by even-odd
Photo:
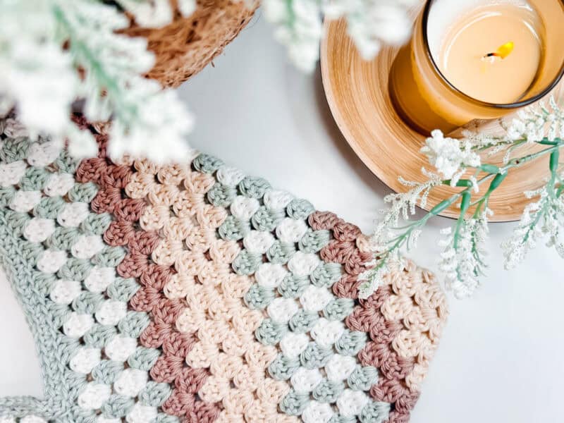
{"type": "MultiPolygon", "coordinates": [[[[266,180],[249,176],[243,178],[236,187],[223,185],[217,178],[217,171],[223,167],[223,162],[207,154],[200,154],[194,160],[193,165],[198,171],[215,175],[217,182],[207,193],[207,198],[209,202],[217,207],[228,208],[238,195],[262,200],[264,195],[272,189],[266,180]]],[[[283,209],[270,209],[262,202],[257,212],[251,216],[250,221],[238,219],[233,215],[228,216],[218,232],[223,239],[241,240],[252,230],[269,233],[276,231],[278,225],[286,217],[305,221],[312,212],[314,212],[314,207],[307,200],[293,199],[283,209]]],[[[266,252],[266,259],[273,264],[288,264],[296,252],[317,253],[321,248],[329,244],[329,240],[329,231],[313,231],[309,228],[297,243],[282,243],[281,240],[276,239],[266,252]]],[[[238,257],[233,261],[233,269],[238,274],[252,275],[255,274],[263,262],[264,257],[262,254],[249,252],[243,248],[238,257]]],[[[331,290],[333,283],[336,283],[340,278],[341,264],[321,262],[309,276],[300,276],[292,272],[288,273],[276,289],[266,288],[258,283],[253,284],[245,294],[245,303],[251,309],[266,309],[278,297],[298,300],[300,295],[309,286],[324,287],[327,290],[331,290]]],[[[329,321],[344,321],[353,312],[354,306],[354,300],[335,298],[333,296],[333,299],[322,310],[322,314],[329,321]]],[[[300,309],[290,318],[288,324],[272,321],[269,318],[264,319],[255,336],[264,345],[278,345],[287,333],[307,333],[318,320],[318,313],[307,312],[300,305],[300,309]]],[[[300,367],[305,369],[321,369],[334,353],[344,356],[356,356],[366,341],[366,333],[351,332],[348,329],[345,329],[341,338],[331,348],[325,348],[316,341],[311,340],[298,358],[285,357],[283,353],[280,353],[276,360],[269,365],[269,373],[274,379],[288,381],[300,367]]],[[[357,368],[348,376],[346,383],[349,388],[355,391],[369,391],[370,387],[376,384],[377,380],[377,369],[371,366],[362,367],[360,362],[357,362],[357,368]]],[[[311,397],[321,403],[334,404],[344,389],[345,384],[343,382],[323,379],[315,386],[311,397]]],[[[309,393],[298,393],[292,389],[283,398],[279,407],[288,415],[301,415],[311,397],[309,393]]],[[[387,412],[381,412],[381,409],[379,409],[378,413],[371,414],[371,410],[372,407],[386,408],[386,406],[389,409],[389,404],[375,403],[371,400],[364,407],[362,421],[371,423],[383,422],[387,412]]],[[[331,423],[345,423],[349,421],[355,422],[356,417],[350,419],[333,415],[331,419],[331,423]]]]}

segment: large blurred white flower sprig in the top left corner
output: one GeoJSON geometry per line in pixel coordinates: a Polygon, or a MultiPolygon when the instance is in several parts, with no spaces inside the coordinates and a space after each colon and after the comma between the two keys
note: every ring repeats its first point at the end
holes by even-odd
{"type": "MultiPolygon", "coordinates": [[[[168,0],[117,3],[149,26],[172,18],[168,0]]],[[[195,3],[180,6],[189,14],[195,3]]],[[[112,119],[111,157],[188,157],[192,116],[175,92],[143,77],[154,56],[145,39],[116,34],[129,20],[115,4],[0,0],[0,10],[0,116],[16,108],[30,136],[67,140],[73,157],[92,157],[94,139],[71,120],[73,103],[83,100],[90,121],[112,119]]]]}

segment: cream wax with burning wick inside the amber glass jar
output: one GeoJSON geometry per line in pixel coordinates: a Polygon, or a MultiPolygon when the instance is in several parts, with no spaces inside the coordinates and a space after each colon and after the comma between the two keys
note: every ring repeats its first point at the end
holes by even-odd
{"type": "Polygon", "coordinates": [[[440,51],[431,46],[431,54],[458,90],[482,102],[513,103],[539,72],[543,38],[534,8],[488,5],[463,14],[446,33],[440,51]]]}

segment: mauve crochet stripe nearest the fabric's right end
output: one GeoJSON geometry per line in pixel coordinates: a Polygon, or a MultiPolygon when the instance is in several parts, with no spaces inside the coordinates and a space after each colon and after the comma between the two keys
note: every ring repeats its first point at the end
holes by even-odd
{"type": "MultiPolygon", "coordinates": [[[[333,292],[340,298],[358,300],[358,276],[362,271],[367,270],[364,263],[371,259],[370,255],[363,252],[357,245],[362,245],[362,238],[359,238],[361,237],[360,229],[350,223],[345,223],[330,212],[314,212],[309,216],[309,224],[315,230],[333,231],[334,239],[320,252],[325,262],[338,262],[344,265],[346,273],[343,274],[340,281],[333,285],[333,292]]],[[[387,277],[389,279],[391,276],[387,277]]],[[[425,273],[424,278],[429,278],[429,275],[425,273]]],[[[444,297],[438,291],[432,295],[435,295],[433,303],[436,305],[436,310],[424,304],[425,298],[416,300],[414,304],[422,303],[425,310],[436,312],[435,316],[431,317],[442,322],[446,317],[444,297]]],[[[364,346],[358,358],[363,365],[377,367],[384,376],[380,378],[378,384],[372,386],[370,394],[375,400],[393,403],[393,411],[387,422],[400,423],[409,420],[410,410],[419,398],[416,382],[424,376],[429,357],[422,357],[422,364],[418,368],[421,374],[414,375],[412,372],[415,368],[416,357],[407,356],[408,354],[405,353],[402,356],[396,351],[393,343],[400,336],[400,332],[405,329],[405,322],[402,319],[386,319],[381,311],[381,308],[391,301],[392,296],[397,298],[393,292],[393,283],[386,283],[367,300],[359,300],[360,305],[355,307],[345,322],[349,329],[369,334],[372,341],[364,346]],[[408,386],[406,379],[410,381],[410,376],[417,381],[408,386]]],[[[431,301],[431,298],[428,299],[431,301]]],[[[401,317],[407,318],[407,316],[401,317]]]]}

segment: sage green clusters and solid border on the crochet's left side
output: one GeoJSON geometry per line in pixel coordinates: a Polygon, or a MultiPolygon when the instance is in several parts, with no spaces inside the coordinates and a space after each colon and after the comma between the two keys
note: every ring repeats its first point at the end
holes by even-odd
{"type": "MultiPolygon", "coordinates": [[[[23,138],[5,139],[0,146],[0,158],[4,163],[20,160],[31,163],[27,159],[30,146],[30,142],[23,138]]],[[[70,337],[61,331],[63,324],[73,313],[92,317],[111,301],[123,305],[126,310],[128,301],[140,288],[134,279],[123,278],[114,278],[103,292],[97,292],[96,289],[92,291],[90,288],[86,290],[82,286],[97,267],[114,269],[115,274],[116,266],[125,257],[123,247],[108,245],[105,247],[101,245],[102,250],[89,255],[90,258],[87,259],[69,255],[69,253],[74,255],[71,248],[82,236],[99,237],[104,234],[111,222],[109,214],[90,212],[89,204],[98,191],[93,183],[74,183],[66,192],[67,200],[61,196],[43,196],[37,200],[37,204],[32,209],[32,216],[47,221],[59,221],[61,225],[54,227],[54,231],[51,235],[47,235],[47,239],[41,238],[45,239],[43,242],[30,242],[24,239],[32,235],[32,233],[25,234],[27,225],[32,223],[30,214],[7,209],[16,199],[18,192],[29,191],[34,197],[37,195],[35,193],[43,195],[42,191],[46,189],[50,178],[64,177],[66,174],[73,177],[76,166],[77,164],[68,158],[67,152],[63,151],[53,164],[45,167],[27,166],[16,185],[0,188],[0,256],[39,350],[46,398],[45,400],[28,396],[1,398],[0,416],[35,415],[55,422],[92,423],[100,413],[107,418],[125,417],[136,401],[141,405],[160,407],[171,393],[168,384],[149,381],[135,398],[114,393],[102,403],[99,410],[84,409],[77,403],[80,392],[90,382],[87,381],[85,372],[77,373],[69,368],[69,362],[75,354],[86,347],[100,349],[107,347],[117,336],[118,331],[123,336],[138,338],[149,325],[149,317],[145,312],[126,311],[125,316],[115,325],[94,323],[83,336],[70,337]],[[61,213],[73,203],[82,204],[82,208],[86,207],[86,214],[80,218],[80,221],[62,226],[63,223],[69,222],[60,220],[61,213]],[[51,252],[62,252],[65,257],[65,263],[56,273],[44,273],[35,269],[40,255],[46,251],[46,248],[51,252]],[[72,309],[64,301],[60,304],[54,302],[52,295],[57,281],[80,283],[80,291],[71,298],[72,309]]],[[[40,228],[35,227],[34,230],[37,233],[40,228]]],[[[101,242],[101,238],[97,240],[101,242]]],[[[159,355],[159,350],[137,346],[135,352],[128,356],[125,367],[148,372],[159,355]]],[[[96,383],[111,386],[123,371],[123,362],[103,358],[92,369],[90,376],[96,383]]],[[[174,423],[178,422],[178,419],[159,412],[156,421],[174,423]]]]}

